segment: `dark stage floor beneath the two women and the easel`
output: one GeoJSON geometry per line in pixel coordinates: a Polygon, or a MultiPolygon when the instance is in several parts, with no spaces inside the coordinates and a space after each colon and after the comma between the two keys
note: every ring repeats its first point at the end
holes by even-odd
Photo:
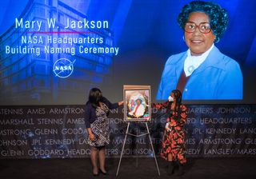
{"type": "Polygon", "coordinates": [[[158,158],[161,176],[154,163],[154,158],[122,158],[118,177],[119,158],[106,158],[108,176],[94,177],[91,173],[90,159],[34,159],[34,160],[0,160],[0,178],[33,178],[33,179],[88,179],[88,178],[121,178],[121,179],[151,179],[151,178],[190,178],[190,179],[255,179],[256,158],[188,158],[185,173],[182,177],[168,176],[167,163],[158,158]]]}

